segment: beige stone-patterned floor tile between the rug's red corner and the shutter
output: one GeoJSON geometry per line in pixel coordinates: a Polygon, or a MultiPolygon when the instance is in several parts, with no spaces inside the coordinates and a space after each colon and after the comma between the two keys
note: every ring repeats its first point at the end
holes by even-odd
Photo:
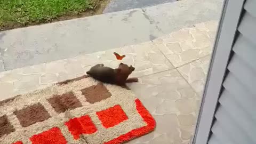
{"type": "MultiPolygon", "coordinates": [[[[183,135],[180,137],[179,117],[195,117],[198,109],[197,95],[176,69],[140,77],[138,83],[129,84],[129,87],[156,119],[153,133],[129,143],[178,144],[189,141],[188,137],[194,131],[182,129],[183,135]]],[[[189,124],[191,128],[196,124],[194,117],[187,119],[186,123],[181,122],[189,124]]]]}

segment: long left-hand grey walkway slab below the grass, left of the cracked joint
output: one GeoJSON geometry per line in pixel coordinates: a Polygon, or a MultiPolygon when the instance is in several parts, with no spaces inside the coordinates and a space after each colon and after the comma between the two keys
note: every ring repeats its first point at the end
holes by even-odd
{"type": "Polygon", "coordinates": [[[162,35],[141,9],[0,33],[6,70],[150,41],[162,35]]]}

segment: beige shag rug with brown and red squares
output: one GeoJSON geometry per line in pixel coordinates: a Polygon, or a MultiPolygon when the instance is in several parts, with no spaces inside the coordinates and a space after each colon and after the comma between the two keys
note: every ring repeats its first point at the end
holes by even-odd
{"type": "Polygon", "coordinates": [[[135,95],[82,76],[0,101],[0,143],[123,143],[155,129],[135,95]]]}

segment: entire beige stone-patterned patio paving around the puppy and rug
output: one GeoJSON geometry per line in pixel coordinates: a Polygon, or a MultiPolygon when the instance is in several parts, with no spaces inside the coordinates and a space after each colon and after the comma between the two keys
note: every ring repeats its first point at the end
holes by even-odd
{"type": "Polygon", "coordinates": [[[131,90],[155,117],[156,130],[128,143],[189,143],[196,124],[217,21],[199,23],[150,42],[0,73],[0,100],[84,75],[95,63],[117,67],[126,54],[138,83],[131,90]]]}

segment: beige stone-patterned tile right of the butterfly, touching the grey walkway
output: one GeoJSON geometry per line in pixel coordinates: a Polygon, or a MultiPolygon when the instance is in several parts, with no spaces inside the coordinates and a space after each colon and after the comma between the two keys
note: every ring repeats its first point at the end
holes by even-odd
{"type": "Polygon", "coordinates": [[[161,45],[158,49],[177,68],[211,54],[217,24],[216,21],[199,23],[193,28],[183,28],[153,42],[161,45]]]}

